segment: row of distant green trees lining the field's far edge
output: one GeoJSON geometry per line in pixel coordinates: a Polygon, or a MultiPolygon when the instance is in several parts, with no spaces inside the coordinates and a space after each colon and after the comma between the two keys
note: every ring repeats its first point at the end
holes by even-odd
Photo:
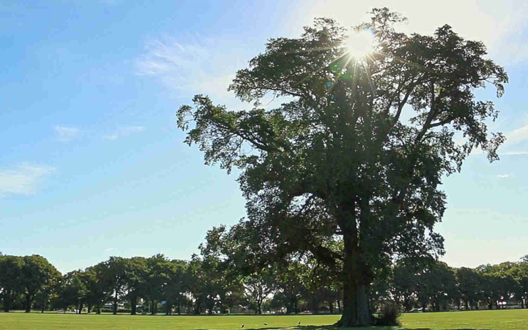
{"type": "MultiPolygon", "coordinates": [[[[240,227],[213,228],[200,255],[190,260],[170,260],[162,254],[110,257],[64,275],[41,256],[0,254],[2,310],[133,315],[342,312],[343,289],[335,270],[307,256],[266,262],[263,254],[254,253],[254,244],[238,243],[237,235],[249,233],[240,227]]],[[[387,301],[406,312],[528,308],[528,256],[477,268],[401,259],[378,274],[371,296],[374,310],[387,301]]]]}

